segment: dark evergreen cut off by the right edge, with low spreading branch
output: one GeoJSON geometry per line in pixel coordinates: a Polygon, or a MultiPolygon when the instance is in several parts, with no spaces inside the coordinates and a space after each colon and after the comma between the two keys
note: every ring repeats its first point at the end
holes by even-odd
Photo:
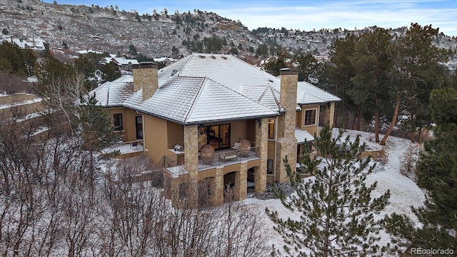
{"type": "Polygon", "coordinates": [[[422,224],[393,214],[388,227],[395,243],[405,247],[457,248],[457,90],[431,92],[431,114],[436,126],[417,163],[418,185],[428,191],[425,207],[413,209],[422,224]]]}

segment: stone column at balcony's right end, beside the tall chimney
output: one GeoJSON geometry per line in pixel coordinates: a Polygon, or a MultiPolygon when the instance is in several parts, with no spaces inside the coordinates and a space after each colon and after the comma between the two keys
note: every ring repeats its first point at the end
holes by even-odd
{"type": "Polygon", "coordinates": [[[254,183],[256,193],[266,189],[266,162],[268,159],[268,118],[261,119],[256,124],[256,156],[260,157],[260,166],[254,168],[254,183]]]}

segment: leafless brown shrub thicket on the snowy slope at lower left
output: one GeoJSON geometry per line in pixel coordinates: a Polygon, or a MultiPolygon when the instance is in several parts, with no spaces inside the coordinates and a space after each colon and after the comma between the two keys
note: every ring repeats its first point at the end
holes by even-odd
{"type": "Polygon", "coordinates": [[[89,153],[66,129],[57,126],[37,141],[34,126],[18,126],[4,117],[1,255],[267,255],[262,210],[229,198],[224,206],[209,206],[211,179],[201,180],[199,188],[184,183],[187,195],[172,206],[164,189],[155,186],[161,176],[140,182],[121,179],[150,171],[146,156],[104,159],[97,162],[104,168],[92,176],[89,153]],[[196,208],[198,202],[204,207],[196,208]]]}

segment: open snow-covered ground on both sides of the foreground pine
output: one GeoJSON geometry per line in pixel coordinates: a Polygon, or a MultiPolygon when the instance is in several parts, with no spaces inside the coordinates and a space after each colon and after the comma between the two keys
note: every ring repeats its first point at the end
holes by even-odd
{"type": "MultiPolygon", "coordinates": [[[[333,135],[337,133],[338,131],[333,131],[333,135]]],[[[351,136],[351,140],[353,140],[357,134],[361,135],[361,143],[366,143],[366,149],[379,150],[382,148],[382,146],[374,141],[373,133],[347,130],[343,134],[343,138],[349,135],[351,136]]],[[[380,138],[382,136],[380,135],[380,138]]],[[[426,200],[421,188],[418,188],[415,182],[400,173],[403,156],[405,156],[407,151],[410,151],[410,146],[414,146],[414,143],[411,143],[408,139],[389,136],[385,146],[388,152],[388,161],[386,163],[378,162],[375,171],[366,178],[367,185],[378,181],[376,191],[373,191],[373,197],[380,196],[388,189],[391,191],[390,203],[379,214],[378,218],[383,218],[385,214],[398,213],[405,214],[413,221],[416,221],[416,217],[411,211],[411,206],[423,206],[426,200]]],[[[260,210],[268,208],[272,211],[278,211],[279,216],[282,218],[291,217],[292,219],[299,219],[300,213],[289,211],[283,207],[281,201],[278,199],[260,200],[258,198],[247,198],[244,202],[246,204],[255,204],[260,207],[260,210]]],[[[279,233],[273,230],[274,223],[270,221],[264,211],[262,215],[266,224],[266,231],[271,235],[268,243],[270,245],[274,244],[276,248],[282,248],[284,245],[283,239],[279,233]]],[[[381,241],[379,243],[383,245],[388,242],[390,242],[388,234],[381,233],[381,241]]]]}

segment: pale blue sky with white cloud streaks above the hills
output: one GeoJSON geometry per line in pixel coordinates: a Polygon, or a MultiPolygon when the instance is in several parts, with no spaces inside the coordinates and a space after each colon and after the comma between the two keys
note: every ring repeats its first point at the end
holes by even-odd
{"type": "MultiPolygon", "coordinates": [[[[54,0],[44,0],[53,2],[54,0]]],[[[448,36],[457,36],[456,0],[313,0],[313,1],[190,1],[190,0],[56,0],[58,4],[119,6],[119,10],[136,10],[152,14],[168,9],[169,14],[213,11],[220,16],[241,21],[248,29],[363,29],[366,26],[398,28],[417,22],[432,25],[448,36]]]]}

